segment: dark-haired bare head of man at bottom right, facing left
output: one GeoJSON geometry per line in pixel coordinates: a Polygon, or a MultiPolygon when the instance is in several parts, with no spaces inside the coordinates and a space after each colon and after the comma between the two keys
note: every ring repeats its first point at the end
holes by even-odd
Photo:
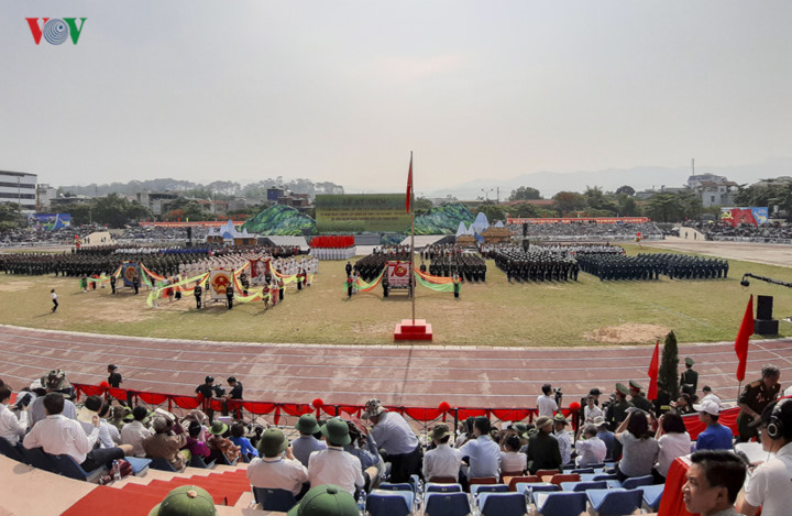
{"type": "MultiPolygon", "coordinates": [[[[746,464],[725,450],[691,455],[688,482],[682,486],[685,508],[702,516],[737,516],[735,501],[746,479],[746,464]]],[[[789,482],[789,481],[787,481],[789,482]]]]}

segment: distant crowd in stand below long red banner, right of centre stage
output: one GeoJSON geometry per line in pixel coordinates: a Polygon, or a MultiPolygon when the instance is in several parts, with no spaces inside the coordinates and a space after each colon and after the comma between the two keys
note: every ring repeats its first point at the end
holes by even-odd
{"type": "MultiPolygon", "coordinates": [[[[522,237],[522,224],[507,224],[515,237],[522,237]]],[[[663,232],[654,222],[604,223],[596,221],[548,222],[526,224],[528,239],[536,240],[662,240],[663,232]]]]}

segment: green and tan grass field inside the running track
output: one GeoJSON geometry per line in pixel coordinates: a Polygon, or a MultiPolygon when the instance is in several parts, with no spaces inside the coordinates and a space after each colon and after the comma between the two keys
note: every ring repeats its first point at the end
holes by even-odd
{"type": "MultiPolygon", "coordinates": [[[[625,245],[636,254],[636,245],[625,245]]],[[[657,251],[657,250],[644,250],[657,251]]],[[[664,251],[673,252],[673,251],[664,251]]],[[[780,286],[752,281],[744,272],[790,279],[788,267],[729,260],[725,279],[601,282],[581,273],[578,282],[507,283],[487,262],[486,283],[468,283],[460,299],[418,287],[416,317],[433,327],[433,344],[477,347],[568,347],[650,344],[669,330],[680,342],[735,338],[749,294],[774,296],[774,317],[792,315],[792,299],[780,286]]],[[[284,305],[264,310],[261,303],[232,310],[210,304],[200,311],[193,297],[148,308],[147,292],[121,289],[81,293],[78,281],[52,276],[0,275],[0,322],[30,328],[105,334],[237,342],[392,345],[394,327],[410,318],[409,298],[382,288],[346,298],[345,262],[322,262],[314,285],[287,289],[284,305]],[[61,308],[51,312],[50,289],[61,308]]],[[[781,336],[792,325],[781,322],[781,336]]],[[[755,337],[755,339],[758,337],[755,337]]]]}

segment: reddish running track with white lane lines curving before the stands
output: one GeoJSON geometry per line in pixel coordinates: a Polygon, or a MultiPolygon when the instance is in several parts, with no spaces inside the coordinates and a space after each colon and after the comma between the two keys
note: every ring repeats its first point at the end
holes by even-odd
{"type": "MultiPolygon", "coordinates": [[[[566,406],[591,387],[609,393],[616,382],[648,385],[652,347],[470,348],[426,345],[255,344],[129,338],[33,330],[0,325],[0,378],[19,389],[51,369],[77,383],[97,385],[114,363],[121,385],[135,391],[191,395],[207,374],[226,385],[237,376],[244,397],[275,403],[437,407],[535,407],[540,386],[562,387],[566,406]]],[[[692,356],[698,388],[735,399],[737,359],[733,342],[680,344],[692,356]]],[[[792,377],[792,339],[751,341],[746,381],[761,366],[792,377]]],[[[680,366],[680,371],[684,369],[680,366]]]]}

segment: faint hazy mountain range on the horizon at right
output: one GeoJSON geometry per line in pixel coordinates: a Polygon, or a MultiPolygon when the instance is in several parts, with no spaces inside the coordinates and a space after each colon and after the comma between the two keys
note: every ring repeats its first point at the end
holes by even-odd
{"type": "MultiPolygon", "coordinates": [[[[752,165],[704,167],[696,166],[695,174],[715,174],[725,176],[738,184],[752,184],[759,179],[779,176],[792,176],[792,157],[777,157],[766,160],[752,165]]],[[[568,174],[557,172],[537,172],[522,174],[510,178],[482,178],[474,179],[457,187],[426,191],[427,197],[454,196],[458,199],[476,199],[488,197],[495,199],[499,188],[499,199],[505,200],[512,190],[520,186],[538,189],[542,197],[550,198],[559,191],[584,191],[586,186],[598,186],[605,191],[615,191],[619,186],[629,185],[636,191],[646,189],[659,190],[662,186],[680,188],[688,183],[691,168],[636,166],[632,168],[608,168],[595,172],[573,172],[568,174]],[[490,189],[493,191],[488,191],[490,189]],[[487,190],[486,195],[482,189],[487,190]]]]}

